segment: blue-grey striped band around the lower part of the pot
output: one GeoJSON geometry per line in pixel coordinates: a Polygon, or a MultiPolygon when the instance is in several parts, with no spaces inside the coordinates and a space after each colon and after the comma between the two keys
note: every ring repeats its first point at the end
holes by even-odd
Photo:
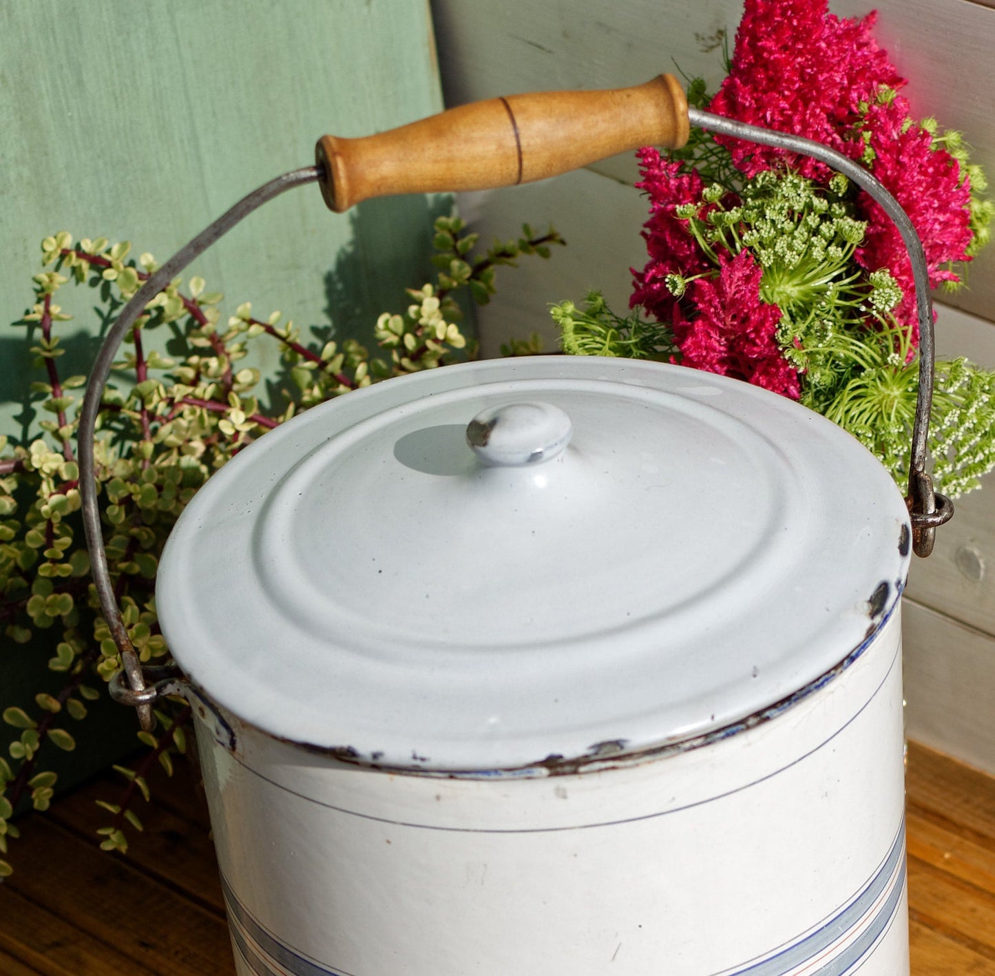
{"type": "MultiPolygon", "coordinates": [[[[905,886],[905,825],[874,877],[837,914],[790,944],[713,976],[847,976],[895,921],[905,886]]],[[[249,913],[222,876],[236,950],[256,976],[351,976],[281,942],[249,913]]]]}

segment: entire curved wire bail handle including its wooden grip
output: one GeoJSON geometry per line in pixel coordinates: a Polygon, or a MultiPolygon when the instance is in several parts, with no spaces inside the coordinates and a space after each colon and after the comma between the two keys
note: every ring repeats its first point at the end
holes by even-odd
{"type": "Polygon", "coordinates": [[[148,302],[254,210],[305,183],[319,183],[326,204],[335,211],[372,196],[493,189],[555,176],[641,145],[679,148],[687,141],[690,124],[819,159],[865,189],[895,221],[912,262],[920,336],[919,399],[905,500],[914,551],[920,556],[929,554],[936,526],[953,514],[950,500],[933,491],[925,472],[933,379],[929,280],[918,235],[896,199],[881,183],[853,160],[819,142],[689,108],[680,84],[670,75],[612,92],[546,92],[494,98],[451,108],[375,136],[322,137],[317,145],[316,165],[278,176],[240,200],[154,272],[107,331],[80,414],[80,493],[100,609],[123,668],[124,679],[115,681],[113,693],[137,708],[143,728],[150,729],[154,723],[152,702],[158,695],[175,690],[175,682],[153,669],[146,672],[142,668],[121,619],[103,548],[94,439],[103,387],[110,375],[114,353],[148,302]],[[441,144],[453,141],[461,146],[455,164],[452,153],[438,151],[441,144]]]}

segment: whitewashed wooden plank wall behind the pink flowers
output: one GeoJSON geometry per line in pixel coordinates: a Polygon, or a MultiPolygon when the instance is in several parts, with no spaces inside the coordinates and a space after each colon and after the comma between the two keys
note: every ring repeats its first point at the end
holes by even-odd
{"type": "MultiPolygon", "coordinates": [[[[880,10],[876,35],[911,84],[921,115],[962,130],[995,178],[995,6],[974,0],[836,0],[834,13],[880,10]]],[[[721,77],[719,32],[731,36],[740,0],[564,0],[499,4],[433,0],[448,104],[514,92],[614,88],[675,67],[721,77]]],[[[546,307],[599,288],[617,306],[630,266],[645,261],[646,208],[629,185],[631,158],[511,190],[466,195],[464,212],[485,235],[513,235],[522,220],[552,222],[569,242],[548,263],[514,272],[481,315],[485,351],[509,335],[553,330],[546,307]]],[[[995,367],[995,247],[970,269],[970,289],[941,295],[937,345],[995,367]]],[[[938,533],[934,554],[913,566],[905,622],[909,735],[995,772],[995,478],[966,496],[938,533]]]]}

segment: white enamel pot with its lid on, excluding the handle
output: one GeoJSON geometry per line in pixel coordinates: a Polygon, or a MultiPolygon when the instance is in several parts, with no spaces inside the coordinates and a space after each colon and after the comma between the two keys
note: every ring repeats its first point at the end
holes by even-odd
{"type": "Polygon", "coordinates": [[[676,366],[268,434],[156,593],[240,976],[906,973],[909,540],[849,435],[676,366]]]}

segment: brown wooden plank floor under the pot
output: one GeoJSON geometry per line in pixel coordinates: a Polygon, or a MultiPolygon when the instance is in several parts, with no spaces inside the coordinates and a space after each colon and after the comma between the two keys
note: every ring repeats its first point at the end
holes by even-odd
{"type": "MultiPolygon", "coordinates": [[[[2,976],[232,976],[206,811],[189,774],[167,783],[126,859],[98,849],[104,782],[22,824],[2,976]]],[[[912,974],[995,976],[995,779],[913,744],[907,793],[912,974]]]]}

